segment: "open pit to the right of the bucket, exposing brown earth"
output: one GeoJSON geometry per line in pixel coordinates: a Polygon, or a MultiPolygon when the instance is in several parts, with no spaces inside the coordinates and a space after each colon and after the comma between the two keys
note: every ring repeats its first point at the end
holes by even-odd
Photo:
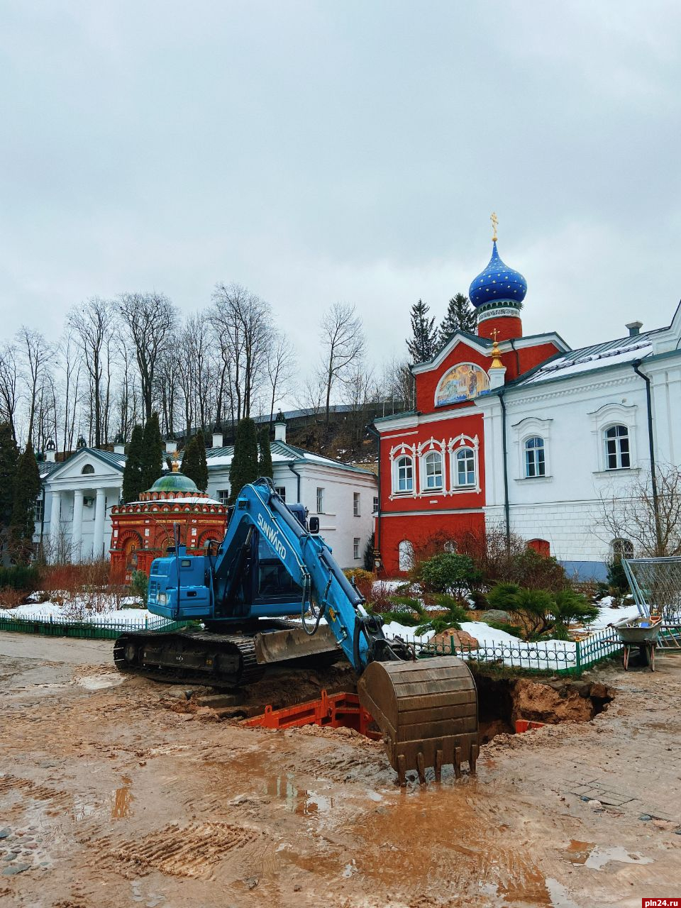
{"type": "Polygon", "coordinates": [[[615,691],[599,682],[567,678],[499,677],[477,670],[480,744],[514,735],[518,720],[558,725],[588,722],[607,709],[615,691]]]}

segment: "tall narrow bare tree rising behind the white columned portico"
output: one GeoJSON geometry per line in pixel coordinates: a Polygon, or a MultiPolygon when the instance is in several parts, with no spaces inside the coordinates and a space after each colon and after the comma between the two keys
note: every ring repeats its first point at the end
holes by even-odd
{"type": "Polygon", "coordinates": [[[72,309],[68,316],[69,324],[80,338],[85,368],[90,376],[90,419],[95,448],[101,448],[108,440],[114,318],[112,304],[96,296],[72,309]]]}

